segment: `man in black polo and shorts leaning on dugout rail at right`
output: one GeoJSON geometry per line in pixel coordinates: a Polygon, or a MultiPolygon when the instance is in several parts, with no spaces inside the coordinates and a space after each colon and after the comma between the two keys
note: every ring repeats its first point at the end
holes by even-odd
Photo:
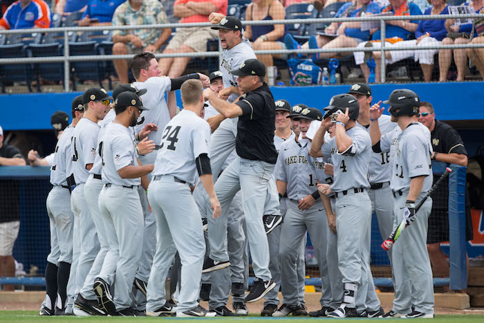
{"type": "MultiPolygon", "coordinates": [[[[467,167],[467,151],[464,142],[457,131],[439,120],[436,120],[434,107],[429,102],[420,102],[418,121],[430,130],[432,148],[434,153],[431,160],[456,164],[467,167]]],[[[434,183],[440,176],[434,176],[434,183]]],[[[467,195],[467,194],[466,194],[467,195]]],[[[429,230],[427,237],[427,250],[430,262],[437,277],[449,277],[449,264],[440,250],[440,242],[449,241],[449,213],[448,185],[440,185],[432,194],[432,212],[429,216],[429,230]]],[[[466,200],[468,201],[467,197],[466,200]]],[[[472,240],[472,219],[470,209],[466,203],[466,240],[472,240]]]]}

